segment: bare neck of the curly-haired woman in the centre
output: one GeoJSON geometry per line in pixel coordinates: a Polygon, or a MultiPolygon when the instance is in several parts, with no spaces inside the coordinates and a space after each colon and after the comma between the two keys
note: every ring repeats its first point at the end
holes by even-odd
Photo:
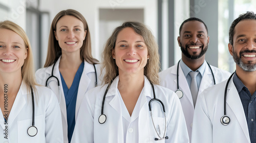
{"type": "MultiPolygon", "coordinates": [[[[119,73],[120,74],[120,73],[119,73]]],[[[118,90],[133,90],[141,91],[144,87],[144,76],[143,74],[120,74],[118,82],[118,90]]]]}

